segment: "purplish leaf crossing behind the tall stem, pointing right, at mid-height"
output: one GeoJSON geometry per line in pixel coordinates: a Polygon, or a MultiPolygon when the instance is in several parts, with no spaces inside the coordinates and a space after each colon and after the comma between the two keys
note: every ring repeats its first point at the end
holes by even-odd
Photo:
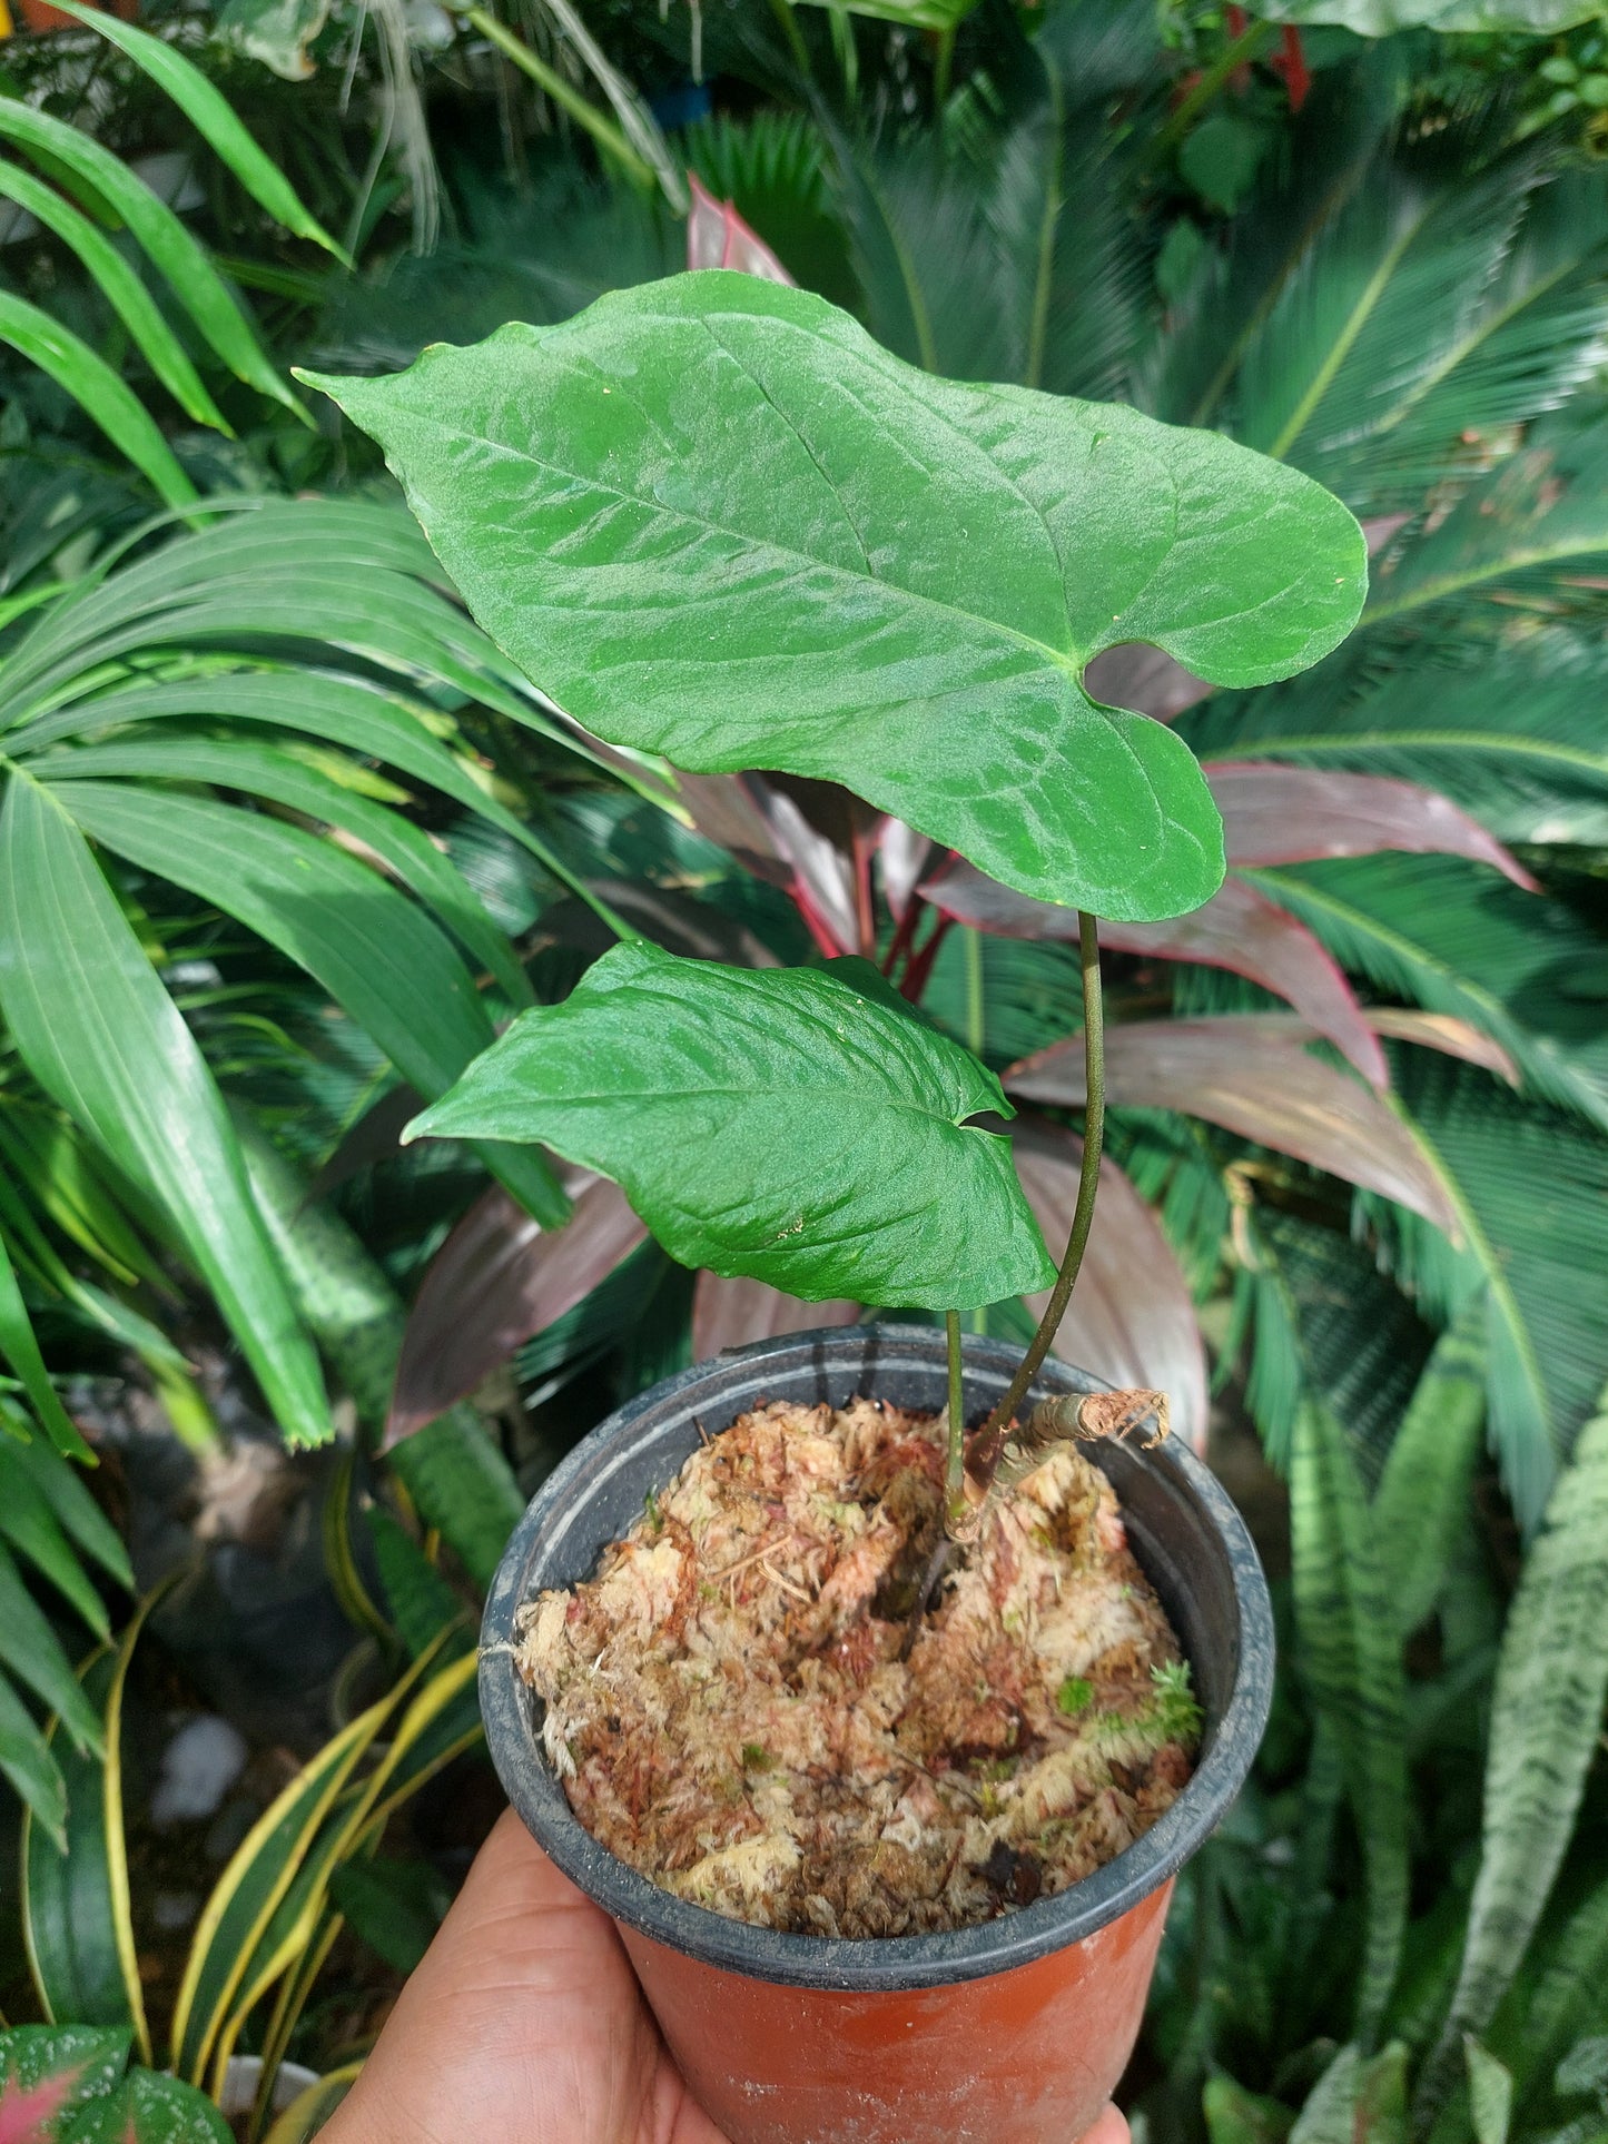
{"type": "MultiPolygon", "coordinates": [[[[1083,1036],[1025,1057],[1006,1072],[1006,1089],[1033,1102],[1081,1106],[1083,1036]]],[[[1445,1186],[1406,1126],[1368,1087],[1310,1057],[1282,1014],[1108,1027],[1106,1100],[1113,1108],[1177,1108],[1205,1117],[1381,1192],[1458,1239],[1445,1186]]]]}

